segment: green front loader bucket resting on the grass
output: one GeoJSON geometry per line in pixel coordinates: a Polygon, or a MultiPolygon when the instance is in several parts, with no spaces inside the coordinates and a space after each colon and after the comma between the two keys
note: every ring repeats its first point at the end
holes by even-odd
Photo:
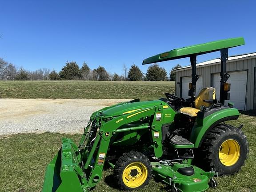
{"type": "Polygon", "coordinates": [[[85,176],[80,172],[76,147],[64,138],[62,148],[46,168],[42,192],[85,192],[82,185],[86,184],[85,176]]]}

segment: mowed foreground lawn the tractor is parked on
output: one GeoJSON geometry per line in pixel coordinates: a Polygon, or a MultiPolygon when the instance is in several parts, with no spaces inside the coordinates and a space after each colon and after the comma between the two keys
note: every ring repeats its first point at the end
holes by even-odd
{"type": "MultiPolygon", "coordinates": [[[[234,176],[217,179],[218,188],[208,192],[255,192],[256,191],[256,117],[241,115],[235,126],[244,123],[244,132],[248,136],[250,152],[246,165],[234,176]]],[[[47,164],[60,148],[61,138],[69,137],[76,142],[80,135],[58,133],[17,134],[0,137],[0,192],[40,192],[47,164]]],[[[112,179],[112,168],[104,171],[104,178],[93,192],[118,192],[112,179]]],[[[140,192],[166,191],[166,185],[150,180],[148,186],[140,192]]]]}

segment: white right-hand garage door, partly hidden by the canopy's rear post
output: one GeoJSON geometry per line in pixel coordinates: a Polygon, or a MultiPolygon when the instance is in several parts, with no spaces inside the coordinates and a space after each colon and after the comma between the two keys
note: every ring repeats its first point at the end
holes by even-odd
{"type": "MultiPolygon", "coordinates": [[[[234,107],[240,110],[245,110],[245,97],[246,97],[246,83],[247,83],[247,71],[243,72],[230,72],[230,77],[227,83],[231,84],[230,87],[230,100],[228,102],[234,103],[234,107]]],[[[216,88],[216,99],[220,99],[220,74],[213,74],[212,86],[216,88]]]]}

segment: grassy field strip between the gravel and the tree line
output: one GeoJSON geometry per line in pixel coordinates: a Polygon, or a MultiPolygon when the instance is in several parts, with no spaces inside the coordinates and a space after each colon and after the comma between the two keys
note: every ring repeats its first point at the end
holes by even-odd
{"type": "Polygon", "coordinates": [[[159,99],[174,81],[0,81],[0,98],[159,99]]]}

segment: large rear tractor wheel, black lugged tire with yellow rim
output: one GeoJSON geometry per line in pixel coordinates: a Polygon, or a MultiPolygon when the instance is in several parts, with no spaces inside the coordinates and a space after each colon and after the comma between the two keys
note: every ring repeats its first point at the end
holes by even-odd
{"type": "Polygon", "coordinates": [[[213,168],[219,175],[234,174],[247,159],[247,137],[239,128],[219,124],[207,133],[200,152],[206,170],[213,168]]]}

